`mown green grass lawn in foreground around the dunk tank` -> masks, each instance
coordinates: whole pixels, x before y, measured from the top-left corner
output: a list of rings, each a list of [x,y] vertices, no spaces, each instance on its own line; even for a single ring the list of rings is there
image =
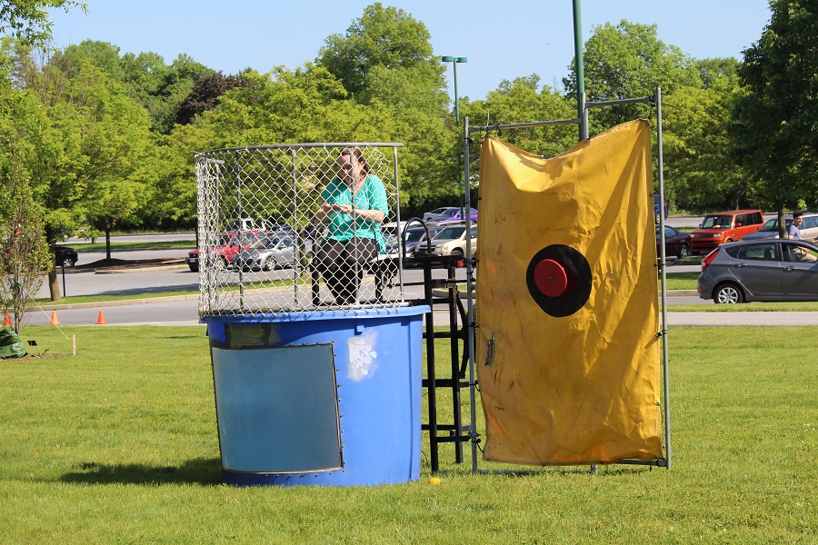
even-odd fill
[[[65,333],[75,357],[30,326],[46,357],[0,361],[3,543],[818,542],[818,374],[791,342],[813,328],[671,328],[673,471],[473,475],[443,445],[432,486],[424,432],[418,482],[244,489],[220,484],[204,327]]]

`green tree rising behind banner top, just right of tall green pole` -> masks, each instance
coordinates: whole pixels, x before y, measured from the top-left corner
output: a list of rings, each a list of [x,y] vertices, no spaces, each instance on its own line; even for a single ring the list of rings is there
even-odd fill
[[[569,66],[564,78],[565,94],[576,96],[576,66]],[[656,25],[621,21],[594,26],[585,43],[585,97],[598,102],[640,98],[655,93],[672,95],[680,87],[699,87],[701,80],[691,57],[674,45],[666,45],[656,34]],[[589,112],[590,133],[602,133],[615,124],[636,118],[651,118],[651,104],[619,104],[594,108]]]

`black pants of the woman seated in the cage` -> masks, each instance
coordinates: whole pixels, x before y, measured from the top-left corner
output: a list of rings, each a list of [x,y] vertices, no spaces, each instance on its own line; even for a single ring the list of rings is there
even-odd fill
[[[370,238],[327,239],[315,254],[318,272],[338,304],[358,302],[358,285],[366,263],[378,257],[378,243]]]

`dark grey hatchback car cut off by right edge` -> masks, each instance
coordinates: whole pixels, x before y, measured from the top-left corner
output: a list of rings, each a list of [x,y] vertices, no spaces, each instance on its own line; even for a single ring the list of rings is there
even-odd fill
[[[723,244],[703,259],[698,290],[717,303],[818,301],[818,245],[790,239]]]

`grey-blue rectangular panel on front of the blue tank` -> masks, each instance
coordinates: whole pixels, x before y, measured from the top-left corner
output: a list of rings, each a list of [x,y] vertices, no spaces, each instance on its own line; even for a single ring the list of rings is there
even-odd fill
[[[241,472],[341,469],[329,344],[213,349],[222,465]]]

